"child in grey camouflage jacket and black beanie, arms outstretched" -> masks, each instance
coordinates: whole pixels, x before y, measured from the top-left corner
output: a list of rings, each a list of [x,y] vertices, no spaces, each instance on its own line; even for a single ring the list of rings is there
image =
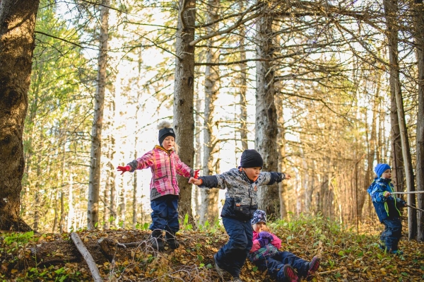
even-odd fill
[[[199,179],[191,177],[189,180],[199,187],[227,189],[221,217],[230,240],[213,255],[213,259],[218,274],[222,277],[227,271],[232,276],[232,282],[242,281],[240,270],[252,248],[250,220],[258,208],[258,188],[291,178],[281,172],[261,172],[263,165],[264,160],[257,151],[245,150],[238,169],[232,168],[223,174]]]

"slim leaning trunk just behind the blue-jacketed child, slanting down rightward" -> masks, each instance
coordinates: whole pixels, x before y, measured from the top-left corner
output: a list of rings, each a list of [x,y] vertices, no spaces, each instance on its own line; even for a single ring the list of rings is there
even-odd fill
[[[386,16],[387,37],[389,42],[389,61],[390,61],[390,88],[394,92],[396,100],[396,110],[399,120],[399,130],[401,136],[402,156],[404,158],[406,187],[409,192],[414,191],[413,170],[411,151],[409,147],[408,131],[406,128],[404,102],[401,93],[399,81],[399,63],[398,63],[398,29],[396,28],[396,15],[398,14],[397,0],[384,0],[384,13]],[[393,93],[392,92],[392,93]],[[396,175],[397,176],[397,175]],[[408,202],[415,203],[415,194],[408,194]],[[413,208],[408,208],[408,237],[413,239],[417,235],[417,212]]]

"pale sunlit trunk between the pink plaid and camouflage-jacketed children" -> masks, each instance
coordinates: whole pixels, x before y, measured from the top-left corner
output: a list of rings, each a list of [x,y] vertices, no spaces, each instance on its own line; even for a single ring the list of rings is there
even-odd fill
[[[220,0],[208,0],[208,23],[218,20],[218,7]],[[218,29],[218,24],[208,27],[208,33]],[[208,40],[208,46],[213,46],[213,39]],[[219,49],[209,48],[206,53],[206,61],[208,63],[218,63]],[[203,175],[215,175],[216,162],[219,141],[216,134],[217,121],[213,117],[216,116],[215,101],[218,98],[219,88],[219,67],[206,66],[205,69],[205,113],[204,113],[204,163]],[[204,225],[206,221],[214,223],[218,218],[218,191],[219,189],[201,189],[201,208],[199,223]]]

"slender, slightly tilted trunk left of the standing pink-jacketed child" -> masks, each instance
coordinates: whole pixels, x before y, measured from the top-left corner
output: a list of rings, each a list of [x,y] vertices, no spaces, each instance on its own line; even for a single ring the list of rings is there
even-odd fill
[[[102,155],[103,107],[105,104],[107,41],[110,0],[103,0],[100,10],[100,35],[97,90],[95,93],[93,127],[91,129],[90,180],[88,182],[87,228],[97,228],[99,221],[100,157]]]

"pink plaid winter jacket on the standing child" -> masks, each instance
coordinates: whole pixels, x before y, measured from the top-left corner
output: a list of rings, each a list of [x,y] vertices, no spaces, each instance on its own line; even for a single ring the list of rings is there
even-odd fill
[[[155,146],[152,151],[148,151],[128,165],[131,167],[131,172],[151,168],[151,200],[167,194],[179,195],[177,174],[184,177],[193,175],[193,170],[179,160],[175,151],[167,151],[161,146]],[[158,195],[152,193],[153,188],[158,191]]]

